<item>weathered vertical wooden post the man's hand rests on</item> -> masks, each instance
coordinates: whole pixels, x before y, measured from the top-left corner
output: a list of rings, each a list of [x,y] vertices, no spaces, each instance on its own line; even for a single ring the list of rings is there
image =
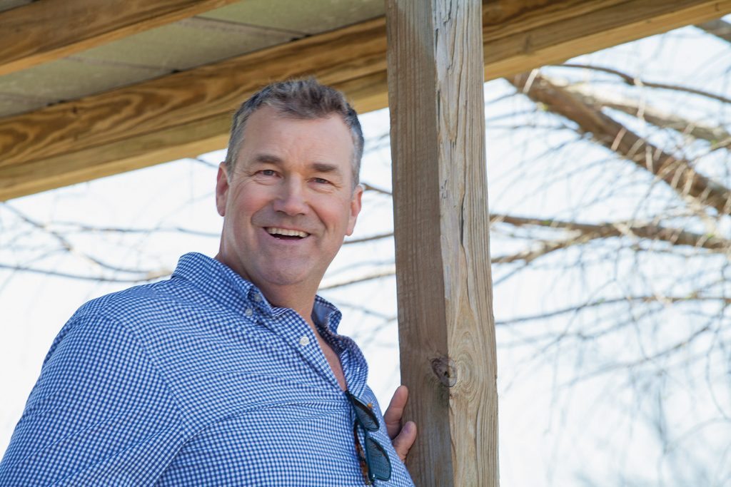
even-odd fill
[[[482,2],[387,0],[401,377],[419,487],[496,487]]]

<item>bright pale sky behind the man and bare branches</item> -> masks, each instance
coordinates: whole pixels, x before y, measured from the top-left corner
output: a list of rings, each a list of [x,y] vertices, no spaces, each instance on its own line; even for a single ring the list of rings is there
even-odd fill
[[[729,96],[729,80],[724,71],[731,64],[729,56],[730,50],[724,43],[702,37],[693,28],[685,28],[670,37],[645,39],[583,56],[575,62],[621,66],[625,72],[642,73],[643,77],[654,80],[672,76],[678,83]],[[567,68],[551,68],[545,72],[553,77],[573,79],[588,76]],[[607,86],[616,89],[616,84],[607,82]],[[607,166],[602,165],[606,162],[605,153],[586,145],[568,145],[575,136],[566,131],[537,137],[532,105],[524,99],[508,98],[511,93],[512,88],[501,80],[485,85],[488,188],[493,212],[587,221],[637,214],[640,200],[631,186],[612,193],[618,196],[594,203],[596,192],[601,193],[603,185],[616,189],[613,180],[602,179],[607,172]],[[700,117],[709,111],[695,99],[687,104],[678,100],[682,101],[683,97],[669,96],[659,102],[667,110],[689,117]],[[721,120],[727,119],[725,113],[717,115]],[[364,114],[362,123],[367,143],[361,180],[390,191],[390,147],[385,137],[389,129],[388,112]],[[0,454],[10,441],[53,337],[77,307],[88,299],[134,285],[135,280],[148,272],[155,275],[170,272],[184,253],[215,255],[221,218],[214,206],[213,189],[216,166],[223,157],[223,151],[216,151],[197,160],[160,164],[15,199],[0,206],[0,263],[58,273],[53,276],[0,269],[0,390],[4,391],[0,404]],[[548,161],[541,166],[540,174],[531,164],[538,160]],[[577,170],[583,166],[586,170]],[[708,168],[709,172],[714,170],[719,169]],[[719,177],[727,175],[719,172]],[[547,179],[554,183],[547,185]],[[654,187],[652,191],[664,190]],[[392,206],[387,194],[366,191],[363,207],[350,239],[393,231]],[[651,212],[652,208],[642,211]],[[33,224],[20,220],[18,212],[51,233],[33,229]],[[127,231],[104,230],[110,227]],[[181,228],[185,231],[176,231]],[[59,238],[71,242],[75,252],[63,250]],[[505,255],[520,245],[526,244],[520,239],[494,234],[491,253]],[[89,261],[87,256],[123,270],[105,268]],[[512,268],[495,272],[497,321],[571,304],[577,296],[596,286],[591,275],[588,279],[571,271],[556,275],[556,270],[550,269],[549,264],[561,266],[565,264],[561,259],[572,258],[580,256],[568,252],[553,261],[547,259],[544,268],[520,278],[511,277]],[[634,270],[628,266],[620,272],[631,274]],[[599,264],[594,272],[609,272],[609,269]],[[659,275],[659,271],[654,272]],[[393,274],[393,239],[375,239],[358,245],[346,243],[330,266],[323,287],[374,274]],[[128,282],[86,279],[113,276]],[[327,289],[322,294],[344,310],[340,331],[354,337],[363,348],[370,364],[369,383],[385,406],[399,383],[395,277]],[[610,308],[608,314],[612,312]],[[596,320],[606,320],[605,315],[596,315]],[[688,322],[686,315],[672,309],[659,310],[657,315],[658,320],[669,326],[645,344],[649,348],[672,342],[675,334],[667,329],[681,334]],[[722,445],[731,433],[727,425],[714,424],[702,429],[691,442],[682,445],[678,442],[681,456],[695,456],[693,462],[688,462],[689,467],[683,467],[671,461],[677,457],[662,452],[663,445],[657,442],[656,432],[644,421],[646,415],[662,409],[666,421],[680,427],[685,424],[683,418],[702,417],[708,413],[708,404],[714,402],[721,404],[719,409],[731,411],[728,388],[720,388],[711,397],[705,389],[698,388],[697,375],[689,373],[688,377],[669,375],[667,380],[673,387],[655,390],[641,370],[629,375],[588,377],[576,386],[571,384],[571,378],[577,370],[594,363],[590,358],[607,356],[609,363],[615,356],[633,350],[635,341],[617,335],[608,350],[605,345],[600,347],[589,342],[586,348],[580,349],[584,350],[582,353],[561,345],[545,345],[542,350],[548,358],[538,359],[537,347],[526,344],[531,340],[539,342],[541,331],[569,331],[582,322],[561,316],[540,324],[540,328],[499,326],[497,330],[499,454],[504,486],[721,486],[726,480],[731,482],[729,450],[722,446],[702,448],[716,443]],[[693,353],[690,348],[688,353]],[[672,429],[668,427],[667,431]],[[718,455],[719,451],[725,452],[720,458],[705,458],[711,453]],[[694,472],[694,464],[714,464],[716,470],[708,474],[710,477],[702,477],[707,474]],[[595,477],[587,477],[586,472],[594,472]],[[626,478],[621,478],[618,472],[625,472]],[[603,479],[604,483],[597,482],[596,478]],[[704,479],[703,483],[694,483],[698,479]]]

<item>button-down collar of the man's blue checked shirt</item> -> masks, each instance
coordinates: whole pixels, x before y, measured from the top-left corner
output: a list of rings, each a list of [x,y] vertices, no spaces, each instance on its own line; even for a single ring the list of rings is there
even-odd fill
[[[284,308],[273,307],[259,288],[226,264],[202,253],[186,253],[178,260],[173,278],[182,277],[226,307],[245,312],[252,304],[265,315],[279,315]],[[342,314],[321,296],[315,296],[312,319],[317,328],[336,334]]]

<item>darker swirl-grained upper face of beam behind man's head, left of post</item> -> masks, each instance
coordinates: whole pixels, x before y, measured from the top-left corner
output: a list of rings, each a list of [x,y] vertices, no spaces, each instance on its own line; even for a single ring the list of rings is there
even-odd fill
[[[1,166],[140,137],[232,112],[273,80],[334,84],[385,72],[382,19],[0,120]]]

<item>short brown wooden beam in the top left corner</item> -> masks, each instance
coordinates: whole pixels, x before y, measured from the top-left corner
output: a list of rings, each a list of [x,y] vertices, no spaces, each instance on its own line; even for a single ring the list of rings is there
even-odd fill
[[[0,76],[238,0],[38,0],[0,12]]]

